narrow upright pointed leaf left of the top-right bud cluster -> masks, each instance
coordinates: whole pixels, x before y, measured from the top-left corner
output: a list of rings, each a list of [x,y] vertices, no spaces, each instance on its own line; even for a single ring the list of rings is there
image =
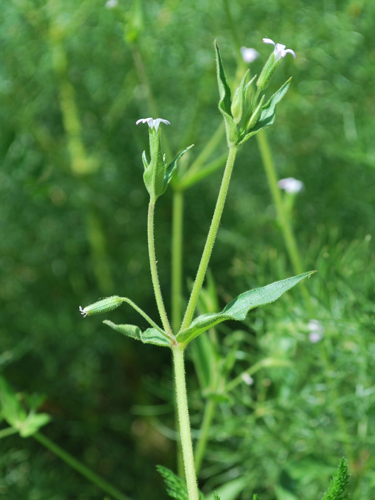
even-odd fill
[[[234,123],[233,116],[231,114],[231,93],[228,81],[226,79],[224,66],[222,65],[222,60],[220,57],[219,48],[217,46],[216,40],[214,41],[215,54],[216,54],[216,74],[217,74],[217,85],[219,89],[219,102],[218,108],[224,117],[226,140],[228,146],[236,144],[238,140],[237,126]]]

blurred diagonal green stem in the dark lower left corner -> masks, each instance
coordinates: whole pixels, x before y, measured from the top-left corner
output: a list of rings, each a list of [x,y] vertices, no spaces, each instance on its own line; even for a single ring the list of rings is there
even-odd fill
[[[40,434],[40,432],[35,432],[32,434],[32,437],[36,439],[40,444],[45,446],[47,449],[52,451],[56,456],[64,460],[70,467],[75,469],[81,475],[83,475],[86,479],[93,482],[100,489],[111,495],[116,500],[131,500],[129,496],[121,493],[117,488],[112,486],[109,482],[102,479],[100,476],[96,475],[95,472],[90,470],[88,467],[83,465],[83,463],[79,462],[76,458],[70,455],[67,451],[60,448],[56,443],[48,439],[44,434]]]

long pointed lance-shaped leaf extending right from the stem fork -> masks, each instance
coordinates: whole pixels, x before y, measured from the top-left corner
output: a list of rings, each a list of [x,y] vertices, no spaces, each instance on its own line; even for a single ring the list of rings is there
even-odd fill
[[[281,296],[286,290],[289,290],[296,285],[301,279],[310,276],[315,271],[303,272],[297,276],[293,276],[274,283],[267,284],[261,288],[245,291],[238,295],[237,298],[227,304],[221,312],[201,314],[190,324],[190,326],[180,331],[177,336],[177,342],[186,345],[199,333],[211,328],[221,321],[226,319],[243,320],[247,312],[259,305],[273,302]]]

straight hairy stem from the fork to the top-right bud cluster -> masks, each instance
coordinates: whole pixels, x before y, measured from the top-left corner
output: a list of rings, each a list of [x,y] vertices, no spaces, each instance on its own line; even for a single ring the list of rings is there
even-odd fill
[[[235,155],[237,153],[238,146],[230,146],[228,159],[226,160],[224,174],[222,176],[221,185],[219,194],[216,201],[215,210],[213,212],[213,217],[211,221],[211,225],[209,227],[207,239],[204,245],[203,253],[200,259],[199,267],[196,273],[194,285],[191,290],[189,302],[186,307],[185,315],[182,321],[181,330],[187,328],[191,323],[191,319],[194,315],[194,310],[196,306],[196,302],[199,297],[199,292],[203,284],[204,276],[207,270],[209,258],[211,256],[213,243],[215,242],[217,229],[220,223],[220,218],[222,214],[222,210],[224,208],[226,194],[228,192],[230,176],[233,170]]]

